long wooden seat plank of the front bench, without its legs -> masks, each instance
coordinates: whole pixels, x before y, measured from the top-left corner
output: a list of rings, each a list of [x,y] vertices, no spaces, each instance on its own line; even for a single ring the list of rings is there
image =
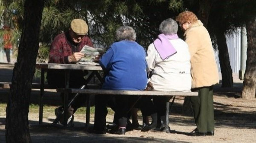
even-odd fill
[[[58,88],[57,92],[63,93],[79,93],[89,95],[174,95],[174,96],[197,96],[197,92],[181,92],[181,91],[127,91],[127,90],[102,90],[102,89],[64,89]]]

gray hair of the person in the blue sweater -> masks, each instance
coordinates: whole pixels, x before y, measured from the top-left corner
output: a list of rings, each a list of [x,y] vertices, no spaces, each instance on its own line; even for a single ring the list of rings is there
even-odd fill
[[[116,30],[116,41],[136,40],[135,30],[130,26],[121,26]]]

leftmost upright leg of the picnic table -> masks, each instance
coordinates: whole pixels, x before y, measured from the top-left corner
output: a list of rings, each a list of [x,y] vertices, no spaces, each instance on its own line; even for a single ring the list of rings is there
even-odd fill
[[[43,93],[44,93],[44,69],[41,69],[40,97],[39,97],[39,125],[43,123]]]

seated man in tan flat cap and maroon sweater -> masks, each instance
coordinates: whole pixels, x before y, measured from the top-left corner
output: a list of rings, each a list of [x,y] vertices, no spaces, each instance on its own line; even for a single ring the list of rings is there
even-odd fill
[[[93,47],[93,43],[86,35],[88,32],[88,25],[82,19],[73,19],[70,23],[68,31],[57,35],[51,45],[49,62],[56,64],[76,64],[83,56],[79,51],[85,46]],[[80,88],[85,84],[84,76],[87,71],[73,70],[70,71],[69,87]],[[56,88],[64,88],[65,73],[60,70],[48,70],[47,82],[49,85]],[[61,94],[64,101],[64,94]],[[72,99],[74,95],[69,95],[68,99]],[[73,126],[73,114],[86,101],[85,95],[78,96],[71,106],[68,108],[67,125]],[[63,107],[55,109],[55,115],[58,117],[63,111]],[[63,117],[60,118],[59,124],[63,124]]]

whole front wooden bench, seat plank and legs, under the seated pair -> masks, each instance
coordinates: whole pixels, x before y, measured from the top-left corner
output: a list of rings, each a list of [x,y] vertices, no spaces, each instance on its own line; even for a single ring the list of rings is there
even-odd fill
[[[68,94],[86,94],[87,96],[87,107],[86,107],[86,130],[88,129],[90,122],[90,95],[138,95],[138,96],[174,96],[172,104],[174,102],[175,96],[197,96],[197,92],[181,92],[181,91],[126,91],[126,90],[102,90],[102,89],[64,89],[58,88],[57,92],[68,93]],[[172,106],[171,104],[171,106]],[[166,102],[166,126],[164,131],[169,133],[169,102]]]

